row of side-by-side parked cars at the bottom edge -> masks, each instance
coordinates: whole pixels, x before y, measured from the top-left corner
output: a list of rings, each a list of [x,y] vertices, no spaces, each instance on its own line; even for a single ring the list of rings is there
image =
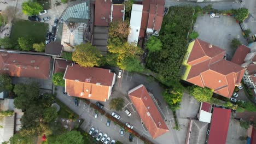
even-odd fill
[[[96,138],[96,141],[101,141],[104,144],[114,144],[115,140],[112,139],[108,136],[108,134],[103,134],[102,132],[100,132],[98,129],[95,129],[94,127],[91,127],[90,131],[89,131],[89,135],[91,135],[92,137]],[[111,141],[110,141],[111,140]]]

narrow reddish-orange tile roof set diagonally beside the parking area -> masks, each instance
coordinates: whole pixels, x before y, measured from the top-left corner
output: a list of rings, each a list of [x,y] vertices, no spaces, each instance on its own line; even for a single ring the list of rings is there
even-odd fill
[[[164,119],[145,86],[139,85],[131,89],[129,98],[153,139],[168,131]]]

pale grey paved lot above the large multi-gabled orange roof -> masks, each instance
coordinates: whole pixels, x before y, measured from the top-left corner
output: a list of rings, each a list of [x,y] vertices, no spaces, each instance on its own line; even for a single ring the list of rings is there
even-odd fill
[[[237,38],[242,44],[247,45],[239,24],[232,16],[220,16],[220,18],[210,18],[207,14],[199,16],[194,31],[199,33],[199,39],[224,49],[228,54],[228,60],[231,60],[234,54],[234,50],[230,47],[232,39]]]

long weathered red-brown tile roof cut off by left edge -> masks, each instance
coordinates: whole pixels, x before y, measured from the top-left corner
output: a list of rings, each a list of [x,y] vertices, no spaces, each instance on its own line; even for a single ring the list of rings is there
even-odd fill
[[[48,56],[0,52],[0,74],[48,79],[50,61]]]

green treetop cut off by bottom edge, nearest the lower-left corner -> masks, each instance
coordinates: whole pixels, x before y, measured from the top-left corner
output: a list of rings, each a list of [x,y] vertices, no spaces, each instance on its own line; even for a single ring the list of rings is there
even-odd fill
[[[33,144],[33,136],[21,136],[19,133],[10,137],[10,144]]]

